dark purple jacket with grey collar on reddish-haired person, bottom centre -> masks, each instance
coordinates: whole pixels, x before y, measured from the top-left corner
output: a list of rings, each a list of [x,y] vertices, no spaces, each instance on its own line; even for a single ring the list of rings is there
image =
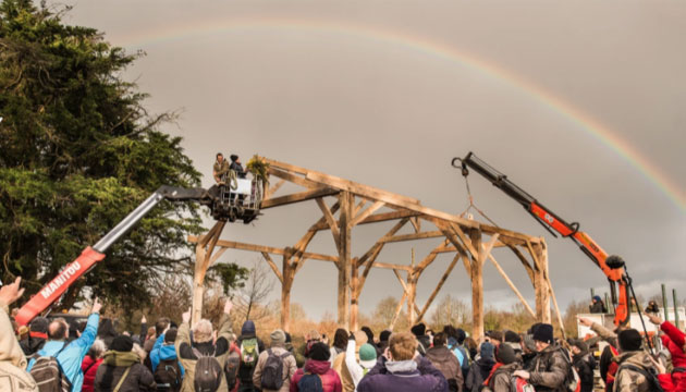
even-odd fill
[[[425,357],[391,362],[381,357],[357,385],[358,392],[448,392],[448,381]]]

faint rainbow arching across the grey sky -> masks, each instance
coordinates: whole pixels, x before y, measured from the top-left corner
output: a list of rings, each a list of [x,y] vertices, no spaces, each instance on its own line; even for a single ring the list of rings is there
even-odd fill
[[[221,19],[215,21],[203,21],[201,25],[173,25],[155,30],[137,32],[118,39],[117,45],[130,49],[160,45],[168,41],[189,39],[206,35],[219,35],[238,32],[253,30],[294,30],[307,32],[310,34],[326,33],[373,40],[385,45],[400,46],[426,56],[439,58],[458,63],[467,69],[474,70],[487,76],[504,82],[536,100],[543,107],[559,113],[563,118],[577,124],[580,130],[601,142],[616,155],[626,160],[638,172],[640,172],[650,183],[657,186],[682,212],[686,212],[686,191],[670,179],[665,173],[650,162],[629,143],[622,139],[615,132],[595,120],[587,113],[581,112],[568,102],[555,97],[553,94],[542,89],[534,83],[515,75],[495,64],[489,63],[470,53],[460,51],[455,48],[436,42],[428,38],[415,35],[407,35],[400,32],[354,25],[336,21],[309,21],[293,19]]]

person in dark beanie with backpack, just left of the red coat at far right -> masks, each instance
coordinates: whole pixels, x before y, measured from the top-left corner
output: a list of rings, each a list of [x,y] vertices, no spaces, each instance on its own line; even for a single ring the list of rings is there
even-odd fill
[[[613,392],[656,391],[659,385],[658,367],[645,352],[642,336],[635,329],[627,329],[617,334],[620,342],[618,369],[614,378]]]

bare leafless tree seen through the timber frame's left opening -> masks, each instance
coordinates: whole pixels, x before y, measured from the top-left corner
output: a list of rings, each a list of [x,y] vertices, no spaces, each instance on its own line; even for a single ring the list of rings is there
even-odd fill
[[[274,285],[271,271],[261,259],[253,260],[245,285],[238,290],[236,305],[244,320],[260,320],[269,316],[265,301]]]

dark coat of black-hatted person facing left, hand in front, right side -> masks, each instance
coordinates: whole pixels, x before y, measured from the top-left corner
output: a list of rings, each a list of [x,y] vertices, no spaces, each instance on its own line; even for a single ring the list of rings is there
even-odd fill
[[[536,355],[529,382],[536,392],[566,391],[565,381],[569,372],[569,362],[562,348],[550,345]]]

